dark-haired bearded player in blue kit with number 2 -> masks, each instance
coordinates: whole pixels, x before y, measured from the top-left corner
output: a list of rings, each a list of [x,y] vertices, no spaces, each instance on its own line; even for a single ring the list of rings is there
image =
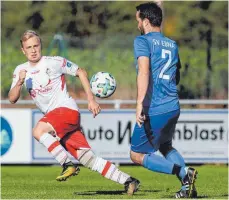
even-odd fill
[[[186,167],[172,146],[180,115],[176,85],[181,67],[175,41],[161,33],[162,10],[156,3],[136,7],[141,36],[134,40],[137,68],[136,125],[130,156],[134,163],[159,173],[174,174],[182,187],[176,198],[195,198],[197,171]],[[162,156],[156,155],[160,151]]]

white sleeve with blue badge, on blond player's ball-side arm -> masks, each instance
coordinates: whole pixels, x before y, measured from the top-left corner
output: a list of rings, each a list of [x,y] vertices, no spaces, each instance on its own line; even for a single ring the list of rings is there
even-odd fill
[[[54,68],[56,71],[61,71],[62,74],[76,76],[77,70],[79,69],[78,65],[63,57],[55,57],[54,60]]]

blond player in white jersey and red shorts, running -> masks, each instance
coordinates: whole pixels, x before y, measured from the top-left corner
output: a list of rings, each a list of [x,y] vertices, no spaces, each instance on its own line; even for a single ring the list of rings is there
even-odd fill
[[[64,181],[79,173],[79,167],[68,158],[67,150],[85,167],[123,184],[128,194],[136,192],[140,182],[96,156],[82,133],[80,113],[75,100],[67,92],[64,76],[68,74],[80,79],[87,95],[88,109],[95,117],[101,108],[91,92],[86,71],[65,58],[42,56],[41,38],[35,31],[27,30],[20,42],[28,62],[17,66],[14,71],[9,101],[16,103],[25,85],[44,113],[33,129],[33,136],[62,165],[63,171],[56,180]]]

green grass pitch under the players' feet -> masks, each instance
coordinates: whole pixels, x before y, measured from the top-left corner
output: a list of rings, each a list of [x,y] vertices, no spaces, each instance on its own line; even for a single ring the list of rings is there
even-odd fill
[[[195,167],[199,198],[228,199],[228,166]],[[158,174],[139,166],[121,166],[121,170],[141,181],[134,196],[123,192],[123,185],[81,167],[76,177],[57,182],[58,166],[2,166],[2,199],[171,199],[180,188],[175,176]]]

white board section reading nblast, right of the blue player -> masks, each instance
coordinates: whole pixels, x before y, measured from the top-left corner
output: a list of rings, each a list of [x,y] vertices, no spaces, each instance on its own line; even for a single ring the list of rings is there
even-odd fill
[[[228,163],[227,110],[182,110],[174,147],[189,163]]]

